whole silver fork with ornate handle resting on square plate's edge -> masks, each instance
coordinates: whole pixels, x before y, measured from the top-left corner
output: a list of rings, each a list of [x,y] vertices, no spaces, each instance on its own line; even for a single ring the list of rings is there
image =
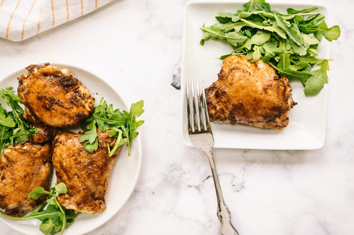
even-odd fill
[[[202,97],[199,89],[199,81],[197,82],[197,97],[194,96],[194,86],[191,82],[191,96],[189,85],[187,82],[187,125],[189,138],[194,147],[200,149],[209,160],[212,176],[214,179],[216,198],[217,198],[217,217],[221,222],[220,235],[238,235],[238,232],[231,224],[231,214],[226,206],[223,193],[220,187],[219,178],[217,177],[215,163],[213,159],[212,149],[214,146],[214,138],[210,128],[209,114],[206,106],[204,81],[202,81]],[[197,99],[197,102],[196,102]],[[192,109],[192,114],[191,110]]]

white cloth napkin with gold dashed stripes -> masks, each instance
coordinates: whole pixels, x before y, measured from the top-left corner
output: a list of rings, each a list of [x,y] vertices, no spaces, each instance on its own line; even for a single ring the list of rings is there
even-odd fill
[[[21,41],[112,0],[0,0],[0,37]]]

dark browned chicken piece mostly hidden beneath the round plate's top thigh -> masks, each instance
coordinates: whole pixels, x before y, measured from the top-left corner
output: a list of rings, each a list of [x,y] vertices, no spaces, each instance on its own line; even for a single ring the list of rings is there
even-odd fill
[[[35,118],[31,115],[26,107],[23,118],[29,124],[30,128],[39,129],[39,132],[31,135],[28,138],[28,141],[32,144],[45,144],[51,142],[60,131],[59,128],[50,127],[38,120],[35,120]]]

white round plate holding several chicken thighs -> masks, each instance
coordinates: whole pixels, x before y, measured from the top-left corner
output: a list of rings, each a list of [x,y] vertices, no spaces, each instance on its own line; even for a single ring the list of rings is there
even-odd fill
[[[70,69],[73,76],[79,79],[84,86],[89,89],[92,96],[97,102],[101,97],[105,97],[107,103],[113,104],[114,108],[129,110],[123,99],[112,89],[103,79],[98,76],[71,65],[51,63],[60,69]],[[18,70],[13,74],[5,77],[0,81],[0,87],[14,87],[17,90],[18,81],[17,77],[26,72],[25,69]],[[96,104],[97,104],[96,102]],[[119,151],[117,159],[111,171],[111,177],[108,185],[108,192],[106,197],[106,210],[101,213],[86,214],[79,213],[75,217],[75,222],[65,229],[64,234],[84,234],[90,232],[112,218],[124,203],[130,197],[132,191],[137,183],[140,167],[142,161],[142,143],[141,138],[138,136],[133,140],[131,146],[130,156],[128,156],[128,149],[124,145]],[[53,174],[52,186],[55,185],[56,177]],[[43,234],[39,230],[40,221],[37,219],[28,220],[14,220],[0,215],[3,220],[10,227],[25,233],[25,234]]]

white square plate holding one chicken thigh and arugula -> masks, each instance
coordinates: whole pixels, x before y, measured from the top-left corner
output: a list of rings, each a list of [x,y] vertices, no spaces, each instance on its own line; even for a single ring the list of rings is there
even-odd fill
[[[217,23],[218,12],[235,13],[243,10],[243,1],[190,2],[185,6],[182,56],[182,137],[186,145],[192,146],[186,124],[186,83],[204,79],[208,87],[217,80],[222,61],[216,57],[232,51],[227,43],[208,40],[204,46],[199,44],[202,36],[200,26]],[[272,10],[286,13],[287,8],[304,9],[318,7],[318,12],[326,16],[324,6],[293,4],[293,1],[269,1]],[[330,24],[329,24],[330,25]],[[324,38],[319,46],[319,58],[329,58],[329,42]],[[291,83],[293,99],[298,102],[290,110],[289,125],[282,130],[261,129],[242,125],[211,124],[215,148],[242,149],[319,149],[325,143],[327,120],[327,93],[325,87],[316,96],[306,97],[300,82]]]

